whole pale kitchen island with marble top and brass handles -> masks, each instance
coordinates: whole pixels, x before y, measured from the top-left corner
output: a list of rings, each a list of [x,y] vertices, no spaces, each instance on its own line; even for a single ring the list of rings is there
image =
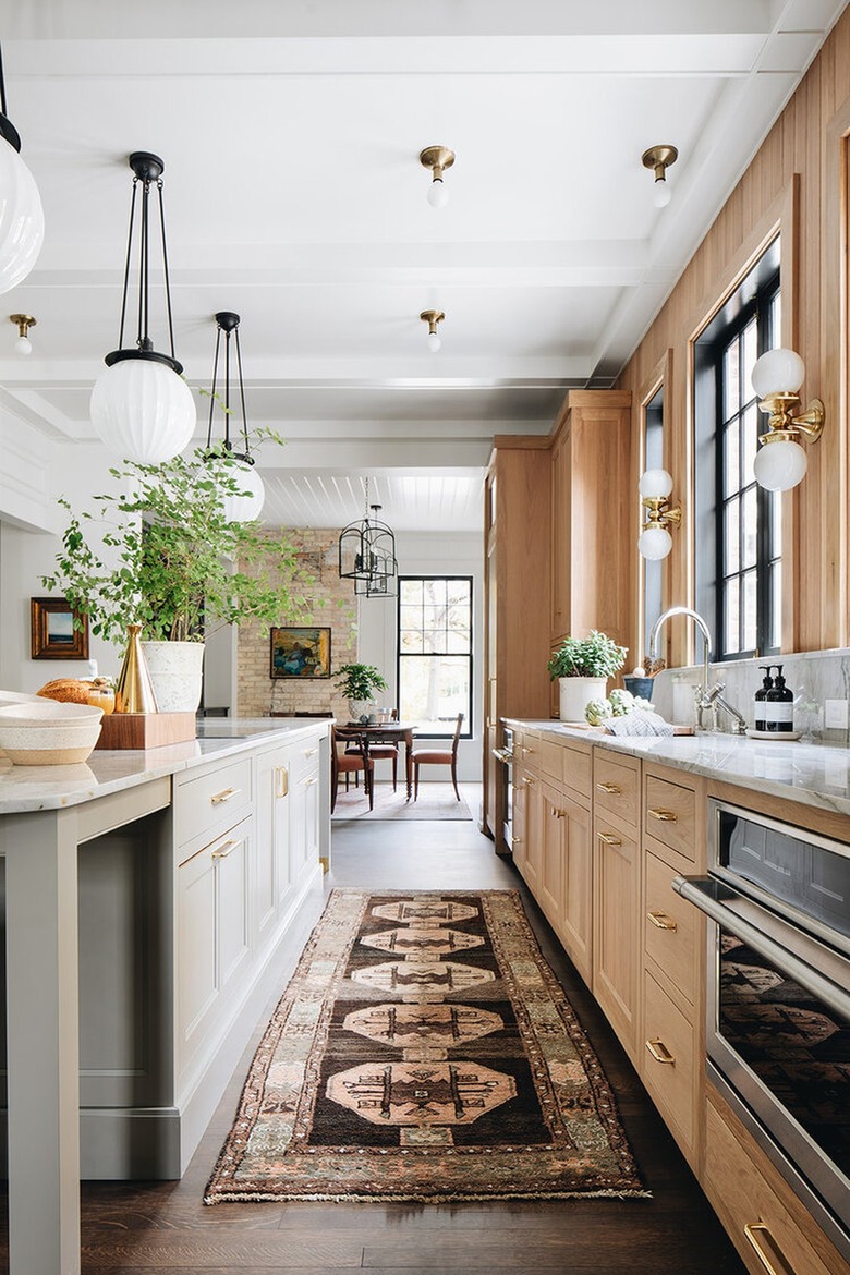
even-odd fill
[[[330,856],[329,720],[0,760],[9,1270],[80,1270],[80,1177],[180,1177]]]

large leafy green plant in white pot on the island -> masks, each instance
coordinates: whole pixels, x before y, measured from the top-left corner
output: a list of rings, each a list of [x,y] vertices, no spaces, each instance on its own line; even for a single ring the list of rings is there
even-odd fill
[[[42,578],[92,632],[120,645],[127,625],[141,626],[162,711],[198,708],[204,634],[220,625],[268,625],[307,617],[298,592],[311,583],[296,569],[294,550],[259,523],[231,521],[224,497],[242,493],[236,463],[223,449],[198,448],[159,465],[125,460],[110,473],[116,491],[93,497],[94,511],[70,514],[56,570]],[[178,648],[194,664],[189,699],[175,696],[182,673],[157,680]]]

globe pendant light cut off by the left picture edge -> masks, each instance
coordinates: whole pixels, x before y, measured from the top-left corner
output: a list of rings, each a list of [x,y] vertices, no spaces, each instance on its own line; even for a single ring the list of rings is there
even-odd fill
[[[25,279],[45,238],[38,186],[20,158],[20,135],[6,116],[6,85],[0,55],[0,292]]]

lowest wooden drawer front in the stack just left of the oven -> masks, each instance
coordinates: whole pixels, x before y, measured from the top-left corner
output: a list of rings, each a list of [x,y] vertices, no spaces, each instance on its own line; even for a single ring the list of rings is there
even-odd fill
[[[686,1144],[693,1146],[693,1026],[649,973],[644,997],[644,1084]]]

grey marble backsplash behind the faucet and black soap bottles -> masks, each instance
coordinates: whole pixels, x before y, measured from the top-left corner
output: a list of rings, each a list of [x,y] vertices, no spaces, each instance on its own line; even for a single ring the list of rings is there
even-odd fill
[[[850,700],[850,649],[804,652],[798,655],[772,657],[782,664],[785,685],[794,695],[794,729],[803,740],[817,743],[849,745],[846,728],[825,727],[827,700]],[[762,685],[761,668],[767,659],[739,659],[710,666],[710,681],[724,682],[724,699],[753,724],[753,695]],[[702,682],[702,664],[688,668],[665,668],[655,677],[652,705],[668,722],[693,722],[692,686]],[[720,729],[731,727],[720,709]]]

